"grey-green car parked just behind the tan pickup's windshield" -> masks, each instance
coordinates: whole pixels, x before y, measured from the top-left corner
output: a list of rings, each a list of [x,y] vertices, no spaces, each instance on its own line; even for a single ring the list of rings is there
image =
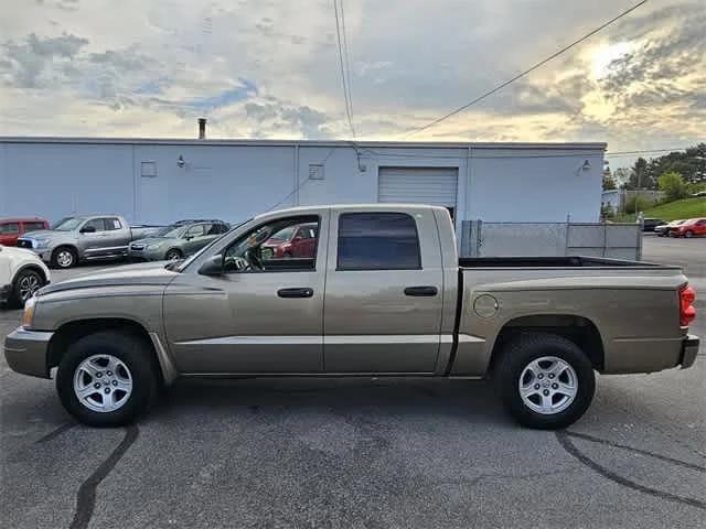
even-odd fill
[[[178,260],[190,256],[229,229],[223,220],[180,220],[156,231],[151,237],[130,244],[128,255],[135,260]]]

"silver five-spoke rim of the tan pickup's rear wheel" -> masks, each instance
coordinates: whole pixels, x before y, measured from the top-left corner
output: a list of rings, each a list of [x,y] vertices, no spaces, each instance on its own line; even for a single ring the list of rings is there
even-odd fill
[[[552,415],[571,406],[578,392],[578,377],[561,358],[543,356],[532,360],[522,370],[518,390],[527,408],[543,415]]]

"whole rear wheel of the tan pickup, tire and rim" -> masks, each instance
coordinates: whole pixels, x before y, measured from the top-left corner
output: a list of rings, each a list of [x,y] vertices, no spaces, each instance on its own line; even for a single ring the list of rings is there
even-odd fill
[[[555,334],[523,333],[501,355],[495,381],[505,409],[520,424],[567,428],[590,406],[593,366],[574,342]]]

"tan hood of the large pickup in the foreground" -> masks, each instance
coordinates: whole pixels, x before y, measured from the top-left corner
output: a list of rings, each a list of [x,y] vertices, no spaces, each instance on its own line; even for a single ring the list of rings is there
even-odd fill
[[[51,283],[40,290],[40,295],[66,290],[126,285],[167,285],[179,272],[167,270],[167,262],[141,262],[98,270],[93,273]]]

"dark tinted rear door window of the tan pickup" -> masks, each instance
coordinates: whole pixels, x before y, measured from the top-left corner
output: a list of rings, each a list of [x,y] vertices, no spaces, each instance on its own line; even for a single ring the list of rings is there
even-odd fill
[[[339,270],[421,268],[417,224],[402,213],[346,213],[339,217]]]

